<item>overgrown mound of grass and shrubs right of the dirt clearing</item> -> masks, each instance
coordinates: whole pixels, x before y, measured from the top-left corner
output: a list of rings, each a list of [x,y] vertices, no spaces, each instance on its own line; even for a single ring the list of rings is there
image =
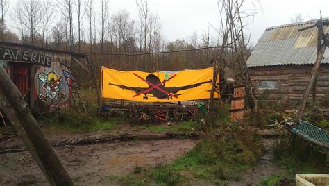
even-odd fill
[[[225,108],[224,108],[225,109]],[[228,112],[201,114],[194,124],[203,139],[169,166],[189,171],[195,178],[223,183],[239,180],[240,172],[251,169],[262,152],[261,137],[243,124],[228,122]]]

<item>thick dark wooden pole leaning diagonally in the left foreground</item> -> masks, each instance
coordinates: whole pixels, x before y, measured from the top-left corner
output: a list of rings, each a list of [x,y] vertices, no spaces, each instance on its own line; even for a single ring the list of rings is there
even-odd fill
[[[33,86],[33,85],[31,85]],[[3,67],[0,67],[0,110],[22,137],[28,151],[50,185],[73,185],[49,143],[44,138],[27,103]]]

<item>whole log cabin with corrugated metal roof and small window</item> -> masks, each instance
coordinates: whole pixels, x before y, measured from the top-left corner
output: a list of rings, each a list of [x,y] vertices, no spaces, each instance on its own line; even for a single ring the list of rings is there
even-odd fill
[[[317,28],[298,32],[317,20],[267,28],[248,58],[256,93],[267,91],[270,99],[301,101],[317,58]],[[323,31],[329,33],[329,27]],[[329,95],[329,49],[321,61],[317,99]],[[312,94],[310,94],[310,98]]]

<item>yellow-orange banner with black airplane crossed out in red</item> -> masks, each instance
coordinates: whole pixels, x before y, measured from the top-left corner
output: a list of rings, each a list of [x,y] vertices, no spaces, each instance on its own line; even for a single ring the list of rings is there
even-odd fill
[[[102,67],[103,98],[143,102],[171,102],[208,99],[213,68],[167,72],[117,71]],[[217,78],[219,79],[219,78]],[[214,92],[214,98],[219,94]]]

